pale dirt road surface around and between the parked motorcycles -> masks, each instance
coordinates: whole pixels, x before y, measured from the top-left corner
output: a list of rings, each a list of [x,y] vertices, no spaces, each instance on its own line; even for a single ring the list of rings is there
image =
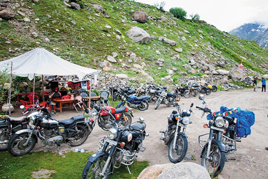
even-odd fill
[[[264,146],[268,146],[266,133],[268,126],[268,92],[261,92],[260,89],[257,89],[257,92],[253,92],[252,89],[219,91],[205,96],[205,101],[215,111],[224,105],[229,108],[240,107],[242,110],[251,110],[255,113],[255,124],[251,127],[252,134],[247,138],[242,138],[242,142],[237,143],[237,151],[227,156],[235,160],[229,160],[229,162],[225,163],[221,178],[268,178],[268,150],[264,149]],[[194,103],[193,111],[195,115],[191,115],[193,124],[190,124],[186,130],[188,136],[188,152],[186,156],[192,155],[194,160],[184,159],[183,161],[201,164],[201,148],[198,145],[198,135],[209,132],[208,129],[202,127],[203,124],[208,122],[205,116],[201,119],[201,111],[195,109],[195,106],[202,106],[202,102],[198,100],[198,97],[188,99],[182,97],[182,101],[179,104],[182,109],[189,109],[192,102]],[[163,104],[155,110],[152,103],[150,103],[149,109],[146,111],[135,110],[133,121],[143,117],[147,124],[146,132],[150,134],[144,140],[143,146],[146,147],[146,150],[138,153],[137,160],[150,161],[150,165],[170,162],[168,159],[168,146],[159,140],[161,136],[159,130],[166,128],[167,116],[170,115],[172,110],[175,110],[175,108],[166,107]],[[83,112],[79,112],[79,114],[83,114]],[[16,115],[19,116],[20,114],[16,113],[13,116],[15,117]],[[62,114],[55,115],[54,118],[61,120],[74,115],[77,115],[74,111],[64,111]],[[79,148],[96,151],[98,142],[103,135],[105,135],[105,131],[96,124],[88,140]],[[57,151],[56,147],[42,147],[40,143],[34,150]],[[74,151],[74,148],[68,145],[60,146],[61,152],[71,150]]]

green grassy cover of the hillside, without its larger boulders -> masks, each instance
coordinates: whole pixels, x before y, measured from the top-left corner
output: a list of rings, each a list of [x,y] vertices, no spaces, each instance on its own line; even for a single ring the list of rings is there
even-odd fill
[[[107,55],[116,52],[119,54],[115,58],[118,62],[112,64],[111,72],[125,73],[143,81],[140,71],[133,68],[121,68],[122,63],[132,66],[144,62],[147,65],[144,71],[154,79],[166,76],[166,70],[175,67],[177,71],[172,76],[175,79],[180,77],[179,72],[187,71],[182,65],[188,64],[193,55],[203,54],[211,63],[225,58],[229,62],[225,64],[227,70],[239,64],[242,56],[246,58],[243,60],[246,68],[261,74],[267,73],[268,52],[266,50],[253,41],[242,40],[221,32],[204,21],[193,22],[187,19],[182,21],[172,17],[169,13],[163,13],[156,7],[133,1],[82,0],[81,2],[85,3],[84,7],[90,9],[85,8],[79,11],[70,9],[63,6],[63,1],[60,0],[36,3],[24,0],[23,6],[20,4],[20,7],[14,11],[19,10],[25,13],[26,17],[31,20],[30,22],[24,22],[23,16],[17,13],[13,20],[0,22],[0,61],[36,47],[44,47],[76,64],[100,69],[99,63],[106,60]],[[103,10],[111,17],[101,16],[92,4],[102,5]],[[135,10],[143,10],[156,20],[150,19],[145,24],[135,23],[132,21]],[[168,21],[158,21],[161,16],[167,18]],[[75,21],[75,24],[71,21]],[[106,24],[112,28],[104,27]],[[149,44],[137,44],[125,35],[125,32],[132,26],[138,26],[156,38],[153,38]],[[122,33],[120,40],[115,38],[117,35],[115,29]],[[185,33],[184,30],[189,31],[190,34]],[[36,32],[38,37],[33,37],[33,32]],[[177,45],[168,46],[158,40],[160,36],[175,40]],[[185,41],[179,38],[182,36],[186,38]],[[50,42],[45,42],[45,38],[48,38]],[[208,50],[210,45],[214,50]],[[182,53],[174,50],[178,47],[183,48]],[[161,54],[158,55],[156,50],[159,50]],[[127,53],[135,53],[138,58],[130,64],[127,61],[129,59]],[[179,54],[179,60],[171,58],[174,54]],[[165,60],[160,70],[155,63],[159,58]],[[202,73],[192,75],[202,75]]]

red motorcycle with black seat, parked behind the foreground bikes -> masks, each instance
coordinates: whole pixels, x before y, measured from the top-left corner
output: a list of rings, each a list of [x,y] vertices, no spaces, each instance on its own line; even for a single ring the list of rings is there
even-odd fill
[[[107,130],[113,127],[110,120],[115,121],[121,128],[130,125],[132,122],[132,109],[128,109],[126,106],[115,109],[110,106],[98,107],[96,104],[89,112],[90,125],[95,126],[98,121],[98,125],[103,130]]]

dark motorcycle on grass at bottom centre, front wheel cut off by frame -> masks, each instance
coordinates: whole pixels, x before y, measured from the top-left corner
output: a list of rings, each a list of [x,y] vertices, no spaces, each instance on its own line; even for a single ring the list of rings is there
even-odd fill
[[[128,166],[134,163],[136,153],[146,149],[142,146],[145,136],[149,136],[145,128],[144,119],[139,118],[134,125],[124,129],[118,126],[108,129],[106,136],[100,140],[98,152],[88,158],[82,179],[108,178],[114,168],[119,168],[122,164],[130,173]]]

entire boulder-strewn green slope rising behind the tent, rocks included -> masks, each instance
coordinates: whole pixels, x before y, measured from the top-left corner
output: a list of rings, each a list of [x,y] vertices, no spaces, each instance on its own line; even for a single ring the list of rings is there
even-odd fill
[[[268,72],[267,51],[255,42],[147,4],[4,0],[0,6],[0,60],[44,47],[76,64],[159,83],[223,76],[242,59],[244,76]]]

